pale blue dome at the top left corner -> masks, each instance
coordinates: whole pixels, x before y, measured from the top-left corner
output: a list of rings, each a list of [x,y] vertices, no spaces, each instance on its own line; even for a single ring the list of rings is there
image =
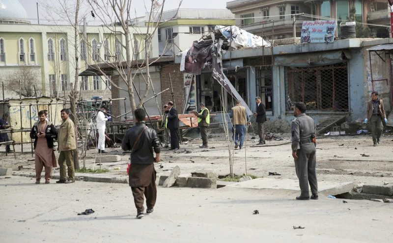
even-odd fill
[[[18,0],[0,0],[0,23],[30,24],[28,13]]]

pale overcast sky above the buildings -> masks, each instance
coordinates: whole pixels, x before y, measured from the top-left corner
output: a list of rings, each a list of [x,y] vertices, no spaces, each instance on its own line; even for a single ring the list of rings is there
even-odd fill
[[[57,1],[69,1],[74,2],[74,0],[19,0],[22,6],[26,9],[28,13],[29,21],[32,24],[37,23],[37,2],[38,2],[38,12],[40,18],[40,24],[43,24],[45,20],[55,21],[60,20],[60,17],[51,16],[47,13],[47,8],[45,4],[55,5]],[[106,2],[107,0],[99,0]],[[197,9],[226,9],[226,2],[230,0],[183,0],[180,8],[197,8]],[[149,3],[150,0],[132,0],[132,7],[137,13],[137,17],[142,17],[145,15],[145,7],[143,2]],[[159,0],[162,2],[162,0]],[[164,11],[177,8],[180,0],[166,0],[164,5]],[[196,4],[197,3],[197,4]],[[90,12],[88,7],[84,8],[85,12]],[[90,15],[89,15],[90,18]],[[92,19],[87,19],[87,21],[93,21]],[[97,21],[97,20],[95,20]]]

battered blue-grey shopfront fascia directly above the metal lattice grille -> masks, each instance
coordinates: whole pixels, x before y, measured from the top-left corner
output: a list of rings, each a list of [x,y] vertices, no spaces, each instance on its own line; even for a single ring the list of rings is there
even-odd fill
[[[296,55],[282,55],[274,58],[274,64],[288,67],[309,67],[331,65],[351,59],[352,56],[347,50],[337,50],[328,52],[305,53]]]

